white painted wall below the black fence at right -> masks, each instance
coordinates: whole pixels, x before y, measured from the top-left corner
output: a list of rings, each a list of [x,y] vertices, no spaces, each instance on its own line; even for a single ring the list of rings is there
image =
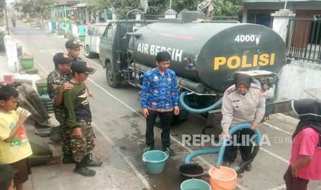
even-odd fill
[[[312,98],[304,89],[321,88],[321,65],[315,63],[292,61],[278,76],[278,100]]]

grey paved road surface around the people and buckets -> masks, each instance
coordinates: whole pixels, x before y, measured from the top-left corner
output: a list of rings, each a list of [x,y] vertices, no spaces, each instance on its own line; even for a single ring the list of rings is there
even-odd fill
[[[17,23],[13,36],[35,57],[40,74],[46,77],[54,68],[52,56],[64,52],[65,40],[61,36]],[[110,88],[98,59],[85,59],[97,72],[88,79],[95,98],[90,99],[93,111],[97,147],[95,155],[104,160],[97,176],[84,178],[72,173],[72,165],[50,165],[32,168],[28,189],[179,189],[177,168],[182,165],[188,151],[208,147],[182,146],[183,134],[200,134],[206,122],[200,116],[190,115],[188,121],[172,128],[173,149],[177,152],[166,162],[159,175],[146,173],[141,150],[144,147],[144,118],[139,114],[139,89],[124,85]],[[264,145],[253,162],[251,172],[239,176],[239,189],[284,189],[282,176],[289,165],[291,133],[297,120],[276,114],[260,125]],[[159,137],[159,130],[155,136]],[[159,138],[156,139],[159,145]],[[160,148],[158,146],[157,148]],[[214,165],[216,155],[199,156],[205,168]],[[208,180],[208,178],[204,178]],[[321,189],[321,182],[310,182],[309,189]]]

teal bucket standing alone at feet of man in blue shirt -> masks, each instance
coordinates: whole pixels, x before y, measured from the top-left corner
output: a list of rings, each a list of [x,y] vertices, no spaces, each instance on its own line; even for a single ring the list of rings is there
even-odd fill
[[[168,152],[152,150],[143,154],[143,161],[146,162],[148,173],[161,173],[165,167],[165,161],[168,158]]]

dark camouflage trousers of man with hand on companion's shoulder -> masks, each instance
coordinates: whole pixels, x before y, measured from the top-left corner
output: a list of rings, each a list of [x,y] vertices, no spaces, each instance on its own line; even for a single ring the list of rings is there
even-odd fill
[[[64,157],[72,157],[72,151],[70,148],[70,129],[66,123],[66,115],[61,112],[55,112],[55,118],[60,124],[62,153]]]

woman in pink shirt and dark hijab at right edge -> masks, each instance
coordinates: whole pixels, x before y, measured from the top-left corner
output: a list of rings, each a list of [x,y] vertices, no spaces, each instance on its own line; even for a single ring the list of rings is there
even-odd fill
[[[299,117],[293,133],[290,166],[284,173],[287,190],[305,190],[309,180],[321,180],[321,101],[292,101]]]

